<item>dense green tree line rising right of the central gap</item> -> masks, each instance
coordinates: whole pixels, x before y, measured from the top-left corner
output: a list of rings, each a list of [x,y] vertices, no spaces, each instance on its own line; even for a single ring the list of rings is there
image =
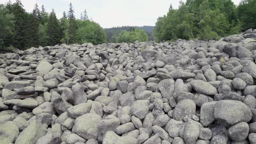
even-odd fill
[[[154,36],[158,41],[176,39],[219,39],[256,28],[256,0],[187,0],[177,10],[172,5],[159,17]]]

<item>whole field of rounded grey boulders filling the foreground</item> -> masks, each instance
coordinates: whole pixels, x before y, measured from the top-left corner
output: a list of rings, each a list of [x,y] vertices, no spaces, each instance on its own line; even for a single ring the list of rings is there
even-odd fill
[[[256,144],[256,29],[0,54],[0,144]]]

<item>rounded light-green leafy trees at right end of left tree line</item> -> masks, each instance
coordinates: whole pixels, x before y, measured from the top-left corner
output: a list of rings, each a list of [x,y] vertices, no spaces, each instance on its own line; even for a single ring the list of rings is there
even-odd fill
[[[106,34],[104,29],[94,21],[90,20],[76,20],[77,36],[79,43],[101,44],[106,41]]]

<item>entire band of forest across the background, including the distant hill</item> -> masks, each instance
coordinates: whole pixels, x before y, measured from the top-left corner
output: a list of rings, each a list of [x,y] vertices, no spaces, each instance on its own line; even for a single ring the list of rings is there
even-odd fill
[[[136,40],[219,39],[256,28],[256,0],[187,0],[170,6],[155,26],[121,26],[103,29],[88,19],[86,10],[76,18],[72,3],[58,19],[54,9],[35,5],[29,13],[21,0],[0,4],[0,51],[54,46],[58,43],[132,43]],[[154,28],[154,29],[153,29]],[[153,30],[152,30],[153,29]],[[153,32],[154,31],[154,32]]]

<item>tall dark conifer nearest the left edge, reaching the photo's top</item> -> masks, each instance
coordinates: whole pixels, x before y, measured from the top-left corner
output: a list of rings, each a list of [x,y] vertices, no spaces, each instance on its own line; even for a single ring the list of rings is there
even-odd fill
[[[16,0],[16,3],[13,4],[13,14],[15,20],[15,31],[14,31],[14,43],[15,47],[18,49],[23,49],[25,47],[25,21],[24,14],[25,10],[23,9],[23,5],[20,0]]]

